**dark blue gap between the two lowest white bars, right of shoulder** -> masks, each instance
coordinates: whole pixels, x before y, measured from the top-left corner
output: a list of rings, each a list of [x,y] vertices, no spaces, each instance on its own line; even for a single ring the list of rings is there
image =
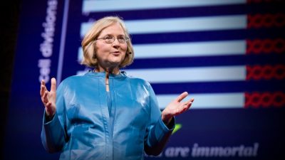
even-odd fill
[[[171,76],[171,75],[170,75]],[[152,83],[153,90],[158,95],[194,93],[224,93],[224,92],[274,92],[284,91],[285,80],[233,81],[233,82],[180,82]]]

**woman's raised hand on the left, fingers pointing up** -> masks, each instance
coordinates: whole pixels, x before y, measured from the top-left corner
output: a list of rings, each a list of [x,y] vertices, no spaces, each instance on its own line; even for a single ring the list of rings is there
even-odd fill
[[[46,110],[48,119],[52,119],[56,114],[56,78],[51,78],[51,90],[46,89],[46,82],[41,80],[41,101]]]

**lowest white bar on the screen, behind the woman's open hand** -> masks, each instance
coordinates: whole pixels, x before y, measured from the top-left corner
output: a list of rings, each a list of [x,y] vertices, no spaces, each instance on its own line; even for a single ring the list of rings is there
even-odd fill
[[[157,101],[160,109],[164,109],[178,95],[157,95]],[[212,109],[212,108],[242,108],[244,107],[244,93],[211,93],[211,94],[191,94],[188,95],[185,102],[194,97],[192,109]]]

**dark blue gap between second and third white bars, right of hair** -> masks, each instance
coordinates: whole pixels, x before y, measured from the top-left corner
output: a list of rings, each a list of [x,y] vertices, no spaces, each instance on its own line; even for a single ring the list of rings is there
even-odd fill
[[[285,37],[283,28],[195,31],[180,33],[149,33],[131,35],[133,44],[175,43],[197,41],[228,41],[254,38]]]

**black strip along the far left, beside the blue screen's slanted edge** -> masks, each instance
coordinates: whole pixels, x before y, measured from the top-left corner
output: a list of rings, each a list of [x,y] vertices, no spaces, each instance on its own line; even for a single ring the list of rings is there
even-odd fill
[[[21,1],[13,0],[1,3],[1,29],[0,29],[0,50],[1,50],[1,78],[0,78],[0,145],[3,159],[4,128],[6,125],[9,95],[11,92],[11,75],[14,66],[14,53],[16,49],[16,39],[19,29],[19,16],[21,11]]]

